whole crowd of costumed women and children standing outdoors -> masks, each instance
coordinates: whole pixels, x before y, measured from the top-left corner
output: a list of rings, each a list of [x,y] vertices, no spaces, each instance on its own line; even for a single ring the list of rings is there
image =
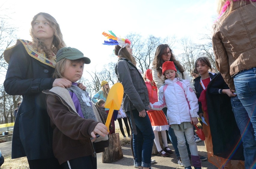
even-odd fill
[[[121,107],[107,127],[109,109],[104,106],[110,85],[103,80],[101,90],[90,98],[78,82],[90,59],[66,47],[53,16],[36,14],[32,42],[18,39],[4,51],[9,64],[5,91],[23,95],[15,112],[12,158],[26,156],[31,169],[95,169],[96,153],[108,147],[116,119],[126,137],[123,119],[135,168],[151,168],[154,143],[157,155],[173,153],[166,130],[177,163],[185,169],[192,169],[191,163],[200,169],[207,159],[197,151],[196,142],[202,139],[209,162],[217,168],[255,168],[255,1],[218,0],[212,45],[219,73],[207,57],[198,57],[191,78],[169,45],[161,44],[142,77],[130,40],[103,32],[108,38],[104,44],[114,45],[115,73],[124,89]],[[199,122],[205,138],[195,133]]]

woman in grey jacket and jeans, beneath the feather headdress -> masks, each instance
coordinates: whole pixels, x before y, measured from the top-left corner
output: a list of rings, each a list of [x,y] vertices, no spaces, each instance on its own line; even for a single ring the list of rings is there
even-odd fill
[[[124,89],[122,108],[132,124],[135,164],[148,169],[154,141],[151,122],[145,110],[149,105],[148,90],[136,68],[130,45],[130,41],[122,47],[115,45],[115,55],[119,57],[115,72]]]

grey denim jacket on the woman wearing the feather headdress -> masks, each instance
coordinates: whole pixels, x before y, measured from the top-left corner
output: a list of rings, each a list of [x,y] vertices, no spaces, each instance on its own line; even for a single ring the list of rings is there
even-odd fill
[[[148,109],[148,89],[136,66],[125,58],[119,58],[115,66],[118,81],[122,83],[124,93],[122,108],[124,112],[137,109],[139,112]]]

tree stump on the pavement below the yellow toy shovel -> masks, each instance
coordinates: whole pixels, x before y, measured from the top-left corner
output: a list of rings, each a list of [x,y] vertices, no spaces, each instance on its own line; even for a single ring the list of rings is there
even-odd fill
[[[109,135],[109,146],[102,152],[102,163],[116,162],[123,158],[119,133]]]

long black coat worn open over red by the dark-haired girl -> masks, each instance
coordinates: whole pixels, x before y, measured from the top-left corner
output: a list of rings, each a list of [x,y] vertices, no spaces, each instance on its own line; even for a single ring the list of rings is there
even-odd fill
[[[219,89],[229,89],[220,73],[211,74],[211,81],[206,90],[209,125],[212,135],[213,154],[231,160],[244,160],[241,135],[232,111],[230,97],[219,93]],[[200,85],[201,77],[194,79],[197,97],[203,88]],[[199,102],[202,112],[202,104]],[[237,144],[239,143],[239,144]]]

